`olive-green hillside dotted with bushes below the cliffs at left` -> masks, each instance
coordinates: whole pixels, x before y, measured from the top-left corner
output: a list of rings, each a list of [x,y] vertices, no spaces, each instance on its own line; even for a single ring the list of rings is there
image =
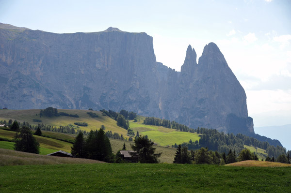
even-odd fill
[[[107,117],[102,116],[102,112],[100,111],[88,111],[88,110],[72,110],[72,109],[58,109],[58,112],[64,112],[68,114],[75,115],[77,114],[79,118],[59,116],[59,117],[45,117],[39,116],[40,109],[29,109],[29,110],[0,110],[0,120],[9,119],[17,120],[20,122],[28,121],[30,124],[37,125],[39,122],[33,122],[33,119],[41,120],[43,124],[52,125],[54,127],[58,126],[66,126],[69,124],[74,125],[74,122],[86,122],[88,123],[87,127],[79,127],[81,130],[90,131],[96,130],[101,127],[101,125],[105,126],[105,131],[112,131],[113,133],[123,134],[126,136],[127,131],[121,127],[116,125],[116,121]],[[96,113],[98,118],[91,118],[87,112]],[[76,125],[75,125],[76,126]]]

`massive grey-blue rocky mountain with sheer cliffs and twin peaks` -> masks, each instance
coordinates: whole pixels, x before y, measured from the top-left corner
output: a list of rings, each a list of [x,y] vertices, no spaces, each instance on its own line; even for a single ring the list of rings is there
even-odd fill
[[[253,134],[246,95],[217,45],[181,72],[156,61],[145,32],[56,34],[0,24],[0,105],[10,109],[127,109],[192,128]]]

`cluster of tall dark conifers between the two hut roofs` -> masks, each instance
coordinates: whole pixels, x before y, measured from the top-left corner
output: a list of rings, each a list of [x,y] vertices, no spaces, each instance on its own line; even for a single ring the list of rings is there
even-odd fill
[[[75,139],[71,154],[77,158],[87,158],[104,162],[113,162],[112,148],[109,138],[102,128],[98,131],[90,131],[85,139],[83,133],[79,133]]]

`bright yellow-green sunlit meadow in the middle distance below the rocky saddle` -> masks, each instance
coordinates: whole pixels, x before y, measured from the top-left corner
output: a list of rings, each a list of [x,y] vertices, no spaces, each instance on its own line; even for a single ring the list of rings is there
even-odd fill
[[[160,146],[171,146],[175,143],[182,144],[183,142],[188,143],[190,139],[196,141],[200,139],[198,134],[189,132],[178,132],[175,129],[169,129],[161,126],[144,125],[142,116],[139,116],[138,122],[129,121],[130,128],[136,133],[147,135],[149,139],[153,140]]]

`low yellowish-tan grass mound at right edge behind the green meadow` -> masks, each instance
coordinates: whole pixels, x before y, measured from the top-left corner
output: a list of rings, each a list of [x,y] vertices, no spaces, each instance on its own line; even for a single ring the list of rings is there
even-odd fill
[[[278,162],[262,162],[255,160],[246,160],[242,162],[229,163],[226,166],[243,166],[243,167],[291,167],[288,163],[278,163]]]

